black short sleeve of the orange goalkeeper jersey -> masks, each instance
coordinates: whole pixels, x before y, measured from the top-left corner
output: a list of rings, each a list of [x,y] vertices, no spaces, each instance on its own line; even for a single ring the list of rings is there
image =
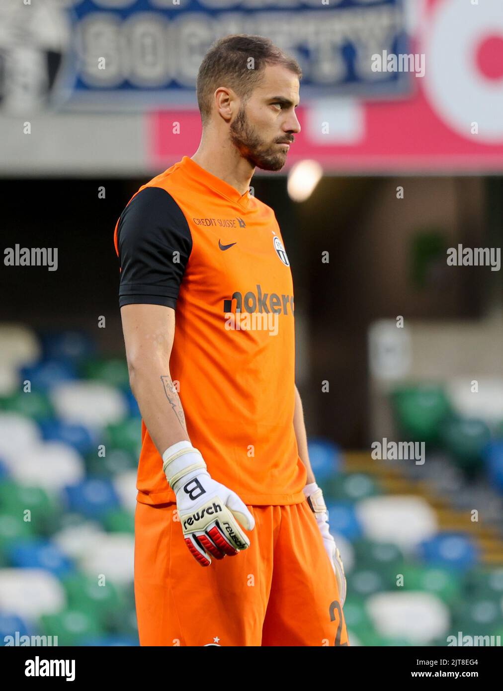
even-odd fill
[[[119,219],[117,249],[121,266],[119,306],[147,303],[176,307],[192,251],[189,224],[173,197],[145,187]],[[180,260],[173,261],[173,252]]]

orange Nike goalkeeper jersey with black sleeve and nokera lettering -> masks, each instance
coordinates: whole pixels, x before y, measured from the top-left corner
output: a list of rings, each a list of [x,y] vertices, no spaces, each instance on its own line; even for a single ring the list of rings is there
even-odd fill
[[[245,504],[302,502],[294,292],[274,211],[184,156],[135,193],[114,241],[120,307],[176,310],[169,370],[211,476]],[[143,421],[137,490],[175,501]]]

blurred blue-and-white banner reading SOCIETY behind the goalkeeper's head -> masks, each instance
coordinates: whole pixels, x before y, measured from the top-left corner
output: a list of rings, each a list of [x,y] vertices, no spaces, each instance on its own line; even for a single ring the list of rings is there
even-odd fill
[[[0,6],[10,48],[28,37],[39,51],[38,63],[33,56],[23,65],[19,98],[31,88],[36,100],[45,89],[60,108],[196,106],[202,57],[213,41],[236,33],[269,37],[296,57],[303,99],[394,96],[410,84],[404,72],[371,68],[375,53],[408,52],[404,0],[32,0],[28,6],[1,0]]]

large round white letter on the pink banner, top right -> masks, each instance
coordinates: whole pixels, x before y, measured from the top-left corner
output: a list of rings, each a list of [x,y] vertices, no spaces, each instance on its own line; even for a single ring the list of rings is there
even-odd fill
[[[430,106],[455,132],[486,144],[503,142],[503,86],[477,70],[475,51],[484,40],[503,37],[501,0],[474,6],[444,0],[431,12],[426,41],[429,72],[424,88]],[[471,134],[471,122],[479,133]]]

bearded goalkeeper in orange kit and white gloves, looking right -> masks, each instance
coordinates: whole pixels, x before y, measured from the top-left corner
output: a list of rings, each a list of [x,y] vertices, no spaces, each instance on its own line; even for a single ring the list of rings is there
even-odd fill
[[[349,645],[294,379],[290,261],[249,193],[300,131],[301,76],[269,39],[217,41],[198,73],[198,151],[142,185],[115,227],[142,414],[141,645]]]

